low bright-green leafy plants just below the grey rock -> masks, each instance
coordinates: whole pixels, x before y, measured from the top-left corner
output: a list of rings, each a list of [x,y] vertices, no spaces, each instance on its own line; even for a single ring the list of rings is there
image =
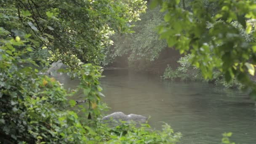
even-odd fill
[[[170,125],[162,125],[162,131],[152,131],[148,124],[143,124],[140,128],[126,123],[117,126],[112,130],[115,135],[111,136],[109,143],[124,144],[177,144],[181,138],[181,133],[174,133]]]

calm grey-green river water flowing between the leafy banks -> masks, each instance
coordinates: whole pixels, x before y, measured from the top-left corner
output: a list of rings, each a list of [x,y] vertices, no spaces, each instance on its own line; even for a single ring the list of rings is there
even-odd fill
[[[256,144],[256,105],[247,93],[202,82],[161,81],[127,70],[107,70],[103,75],[103,101],[112,108],[108,114],[151,116],[153,128],[165,122],[181,132],[181,144],[221,144],[224,132],[232,132],[236,144]],[[56,78],[66,88],[78,83],[65,75]]]

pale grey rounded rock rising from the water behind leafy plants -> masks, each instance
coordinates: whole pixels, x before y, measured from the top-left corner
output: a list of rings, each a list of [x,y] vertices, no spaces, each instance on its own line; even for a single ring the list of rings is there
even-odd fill
[[[128,123],[135,122],[136,124],[146,123],[147,117],[142,115],[125,115],[123,112],[114,112],[102,118],[103,122],[118,124],[120,121],[126,121]]]

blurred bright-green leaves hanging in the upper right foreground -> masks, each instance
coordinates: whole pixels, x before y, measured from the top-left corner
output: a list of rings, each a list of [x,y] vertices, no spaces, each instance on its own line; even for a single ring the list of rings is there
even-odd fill
[[[254,40],[254,0],[218,0],[215,13],[208,11],[201,0],[191,2],[191,10],[182,8],[180,0],[155,0],[155,3],[161,5],[165,13],[165,22],[158,27],[158,32],[169,47],[194,55],[192,64],[201,69],[205,79],[212,79],[217,69],[227,82],[236,77],[255,95],[256,84],[248,75],[254,75],[255,43],[240,35],[242,26]]]

